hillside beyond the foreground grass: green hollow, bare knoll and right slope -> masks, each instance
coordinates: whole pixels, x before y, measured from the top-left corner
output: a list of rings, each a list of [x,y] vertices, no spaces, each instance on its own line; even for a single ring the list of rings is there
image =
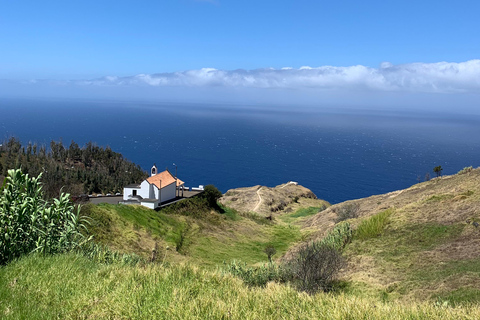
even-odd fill
[[[346,292],[382,300],[480,301],[480,169],[333,206],[293,183],[229,190],[220,202],[225,213],[202,218],[100,205],[95,212],[109,216],[114,227],[102,226],[110,231],[97,231],[97,240],[144,256],[157,242],[169,248],[172,263],[258,265],[267,262],[267,245],[283,260],[301,243],[324,237],[343,208],[356,204],[357,216],[347,219],[353,229],[388,214],[376,234],[354,237],[346,247],[348,266],[340,277]],[[132,220],[139,210],[143,222]]]

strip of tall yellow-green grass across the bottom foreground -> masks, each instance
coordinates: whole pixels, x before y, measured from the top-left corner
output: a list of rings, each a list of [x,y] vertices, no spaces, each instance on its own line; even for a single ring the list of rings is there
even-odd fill
[[[471,293],[474,295],[474,293]],[[309,296],[248,287],[185,265],[103,265],[77,255],[29,256],[0,268],[2,319],[478,319],[480,307]]]

